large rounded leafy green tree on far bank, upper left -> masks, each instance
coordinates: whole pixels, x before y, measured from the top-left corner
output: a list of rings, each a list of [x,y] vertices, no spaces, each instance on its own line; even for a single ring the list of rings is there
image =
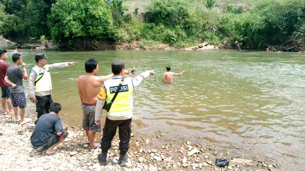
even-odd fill
[[[103,0],[59,0],[52,5],[48,24],[52,38],[59,43],[115,39],[111,12]]]

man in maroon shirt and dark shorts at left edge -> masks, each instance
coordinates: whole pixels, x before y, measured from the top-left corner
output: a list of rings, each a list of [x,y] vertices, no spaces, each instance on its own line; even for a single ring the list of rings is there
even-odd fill
[[[9,91],[9,84],[5,82],[5,74],[6,70],[9,68],[9,64],[5,63],[7,60],[7,52],[6,50],[0,50],[0,87],[1,87],[1,104],[2,104],[2,112],[13,114],[13,105],[11,100],[11,93]],[[7,107],[5,105],[7,103]]]

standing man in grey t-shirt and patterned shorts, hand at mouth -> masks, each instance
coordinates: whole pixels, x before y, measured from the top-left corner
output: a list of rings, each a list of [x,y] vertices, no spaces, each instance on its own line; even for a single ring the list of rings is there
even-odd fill
[[[31,121],[30,118],[25,118],[25,107],[27,107],[27,101],[25,99],[23,80],[27,80],[27,66],[22,61],[22,56],[18,53],[13,54],[13,65],[10,66],[5,75],[5,81],[10,84],[9,91],[11,92],[11,99],[14,108],[15,121],[20,124],[25,124]],[[21,69],[19,65],[22,65]],[[20,117],[18,116],[18,107],[20,111]]]

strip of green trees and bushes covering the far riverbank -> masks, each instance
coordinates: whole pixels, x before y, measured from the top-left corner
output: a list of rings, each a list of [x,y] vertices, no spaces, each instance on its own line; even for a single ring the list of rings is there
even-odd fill
[[[0,0],[0,34],[100,50],[137,42],[305,49],[305,0]]]

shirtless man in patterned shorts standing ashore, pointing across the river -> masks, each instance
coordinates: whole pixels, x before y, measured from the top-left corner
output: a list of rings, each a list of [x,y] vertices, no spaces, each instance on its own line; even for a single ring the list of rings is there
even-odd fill
[[[101,124],[96,125],[94,123],[97,95],[103,82],[111,79],[113,74],[104,77],[96,76],[99,72],[99,64],[94,59],[85,63],[85,70],[87,74],[78,77],[77,87],[83,110],[83,128],[88,136],[89,149],[96,149],[100,146],[100,143],[94,143],[95,133],[102,131]],[[127,70],[127,72],[130,72],[130,70]]]

